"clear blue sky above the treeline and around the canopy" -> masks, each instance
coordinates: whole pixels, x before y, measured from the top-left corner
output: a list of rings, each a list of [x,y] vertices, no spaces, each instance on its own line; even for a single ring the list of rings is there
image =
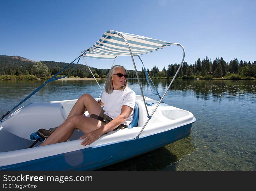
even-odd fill
[[[105,31],[115,30],[180,43],[188,64],[255,58],[256,1],[183,0],[0,0],[0,55],[70,63]],[[183,51],[169,46],[142,55],[146,68],[161,71],[179,64]],[[109,69],[112,60],[86,58],[89,66]],[[85,64],[83,59],[79,61]],[[135,59],[136,67],[142,64]],[[115,64],[134,69],[130,56]]]

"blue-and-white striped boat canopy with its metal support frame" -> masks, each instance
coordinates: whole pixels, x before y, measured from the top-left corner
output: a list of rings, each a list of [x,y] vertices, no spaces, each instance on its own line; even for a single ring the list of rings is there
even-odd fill
[[[84,57],[96,58],[96,59],[114,59],[114,61],[113,61],[113,64],[114,64],[115,59],[118,56],[131,56],[131,60],[132,60],[133,65],[134,65],[135,73],[136,73],[136,76],[137,76],[137,79],[138,79],[138,85],[139,85],[140,90],[141,90],[142,99],[143,99],[145,109],[146,109],[146,112],[147,112],[147,117],[148,117],[147,122],[144,124],[140,133],[136,136],[136,139],[139,138],[143,129],[145,128],[145,126],[147,125],[149,120],[151,119],[152,115],[155,113],[157,107],[162,102],[163,97],[161,98],[160,94],[158,93],[160,101],[157,103],[157,106],[153,110],[152,114],[149,115],[149,112],[147,110],[146,101],[145,101],[145,98],[144,98],[144,94],[143,94],[143,91],[142,91],[141,83],[140,83],[140,80],[139,80],[138,71],[136,69],[136,65],[135,65],[133,56],[138,56],[138,58],[141,60],[140,55],[147,54],[147,53],[150,53],[150,52],[154,52],[154,51],[163,49],[163,48],[165,48],[167,46],[170,46],[170,45],[180,46],[183,50],[183,58],[182,58],[182,61],[179,65],[179,68],[177,69],[176,74],[173,76],[172,81],[170,82],[167,90],[163,94],[163,97],[164,97],[166,92],[170,88],[171,84],[173,83],[173,80],[176,78],[176,76],[177,76],[177,74],[178,74],[178,72],[179,72],[179,70],[182,66],[182,63],[184,61],[185,51],[184,51],[184,48],[181,44],[166,42],[166,41],[162,41],[162,40],[156,40],[156,39],[148,38],[148,37],[145,37],[145,36],[139,36],[139,35],[134,35],[134,34],[122,33],[122,32],[118,32],[118,31],[109,30],[109,31],[106,31],[102,35],[102,37],[95,44],[93,44],[93,46],[91,46],[87,50],[84,50],[84,51],[81,52],[81,56],[82,56],[85,63],[86,63],[86,60],[85,60]],[[142,60],[141,60],[141,62],[143,64]],[[113,66],[113,64],[112,64],[112,66]],[[91,71],[91,69],[90,69],[90,67],[88,66],[87,63],[86,63],[86,65],[87,65],[87,67],[89,68],[90,72],[93,75],[93,72]],[[143,64],[143,67],[144,67],[144,64]],[[145,74],[146,74],[147,71],[146,71],[145,67],[144,67],[144,70],[145,70]],[[95,78],[94,75],[93,75],[93,77]],[[96,78],[95,78],[95,80],[96,80]],[[147,78],[147,81],[148,81],[148,78]],[[96,80],[96,82],[97,82],[97,80]],[[98,85],[99,85],[99,83],[98,83]],[[105,83],[104,83],[104,85],[105,85]],[[103,85],[103,88],[104,88],[104,85]],[[100,85],[99,85],[99,88],[103,91],[103,88],[101,88]],[[101,96],[102,91],[101,91],[99,97]]]

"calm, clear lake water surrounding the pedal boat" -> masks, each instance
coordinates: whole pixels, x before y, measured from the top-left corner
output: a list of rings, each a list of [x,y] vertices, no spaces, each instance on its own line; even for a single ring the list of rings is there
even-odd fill
[[[129,87],[140,95],[138,81]],[[160,95],[170,81],[153,79]],[[0,81],[0,115],[16,106],[43,81]],[[103,86],[104,80],[99,84]],[[146,80],[144,95],[155,100]],[[36,101],[98,97],[94,80],[49,83],[22,104]],[[180,80],[173,82],[163,101],[193,113],[191,135],[165,147],[99,170],[256,170],[256,81]]]

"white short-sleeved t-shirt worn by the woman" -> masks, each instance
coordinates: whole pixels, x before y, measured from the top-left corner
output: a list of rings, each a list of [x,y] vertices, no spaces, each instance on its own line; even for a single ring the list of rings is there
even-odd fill
[[[111,94],[106,91],[103,92],[101,101],[104,103],[105,114],[114,119],[121,113],[122,106],[129,106],[134,109],[135,106],[135,92],[130,88],[125,90],[113,90]],[[122,124],[129,125],[133,119],[134,110]]]

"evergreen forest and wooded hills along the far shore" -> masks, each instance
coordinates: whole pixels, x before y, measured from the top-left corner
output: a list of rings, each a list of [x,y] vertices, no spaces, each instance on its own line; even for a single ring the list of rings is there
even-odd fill
[[[42,61],[35,62],[20,56],[5,56],[0,55],[0,79],[19,79],[10,78],[7,76],[29,76],[27,79],[44,78],[47,79],[50,76],[56,74],[61,69],[66,67],[68,63],[54,62],[54,61]],[[173,78],[179,64],[169,64],[168,67],[164,67],[159,70],[157,66],[154,66],[151,70],[142,67],[141,71],[138,71],[140,78],[146,78],[145,71],[151,78]],[[99,69],[90,67],[96,78],[105,78],[109,69]],[[136,78],[134,70],[128,70],[129,78]],[[92,78],[92,74],[86,65],[72,64],[65,69],[60,75],[79,78]],[[237,58],[226,62],[223,57],[215,58],[213,61],[208,57],[202,61],[198,58],[192,65],[185,61],[177,74],[178,78],[183,79],[255,79],[256,78],[256,61],[243,61]]]

